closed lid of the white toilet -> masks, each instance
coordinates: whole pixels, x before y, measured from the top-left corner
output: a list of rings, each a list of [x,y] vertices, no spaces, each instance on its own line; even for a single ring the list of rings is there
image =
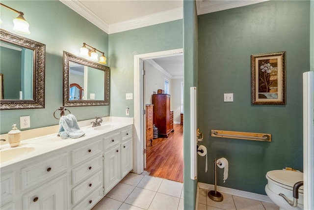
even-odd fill
[[[289,170],[269,171],[267,172],[266,177],[276,182],[290,186],[290,187],[293,187],[293,185],[298,181],[303,181],[302,172],[289,171]],[[303,189],[303,186],[301,186],[300,188]]]

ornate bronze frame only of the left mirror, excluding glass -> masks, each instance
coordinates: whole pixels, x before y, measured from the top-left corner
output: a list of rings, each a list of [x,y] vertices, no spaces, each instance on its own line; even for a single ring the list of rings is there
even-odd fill
[[[34,52],[33,98],[30,100],[0,100],[0,110],[45,108],[46,45],[0,29],[0,41],[28,48]]]

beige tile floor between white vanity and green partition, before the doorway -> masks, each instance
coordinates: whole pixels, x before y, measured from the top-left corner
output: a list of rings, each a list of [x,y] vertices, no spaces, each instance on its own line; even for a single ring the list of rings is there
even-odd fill
[[[93,210],[183,210],[183,183],[129,173]]]

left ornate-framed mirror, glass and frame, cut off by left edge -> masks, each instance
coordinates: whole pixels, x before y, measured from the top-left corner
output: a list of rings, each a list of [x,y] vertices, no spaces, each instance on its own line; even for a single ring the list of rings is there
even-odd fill
[[[46,45],[0,29],[0,110],[45,108]]]

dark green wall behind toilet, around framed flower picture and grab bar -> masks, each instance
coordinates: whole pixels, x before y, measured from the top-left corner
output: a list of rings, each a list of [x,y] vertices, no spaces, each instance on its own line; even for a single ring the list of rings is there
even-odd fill
[[[303,170],[302,73],[310,69],[310,1],[266,1],[200,15],[199,127],[209,169],[199,158],[199,181],[214,183],[214,158],[226,157],[229,177],[218,185],[265,194],[267,171]],[[251,105],[251,54],[286,51],[286,105]],[[224,103],[223,93],[234,93]],[[210,130],[270,133],[271,142],[210,137]]]

